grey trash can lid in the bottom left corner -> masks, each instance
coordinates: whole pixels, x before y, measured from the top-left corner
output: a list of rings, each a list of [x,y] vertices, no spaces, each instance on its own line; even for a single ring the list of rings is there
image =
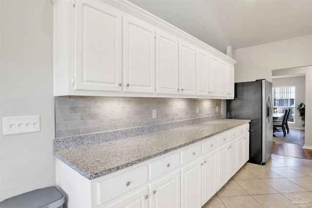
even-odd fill
[[[0,208],[63,208],[65,195],[56,187],[32,190],[0,202]]]

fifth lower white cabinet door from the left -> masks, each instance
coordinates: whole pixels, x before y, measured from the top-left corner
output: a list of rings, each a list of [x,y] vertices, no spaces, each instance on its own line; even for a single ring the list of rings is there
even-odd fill
[[[221,189],[228,181],[228,144],[217,149],[217,189]]]

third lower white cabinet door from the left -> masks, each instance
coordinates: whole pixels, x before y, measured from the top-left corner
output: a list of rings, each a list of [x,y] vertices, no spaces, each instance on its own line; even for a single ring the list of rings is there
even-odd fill
[[[181,208],[201,208],[201,157],[181,168]]]

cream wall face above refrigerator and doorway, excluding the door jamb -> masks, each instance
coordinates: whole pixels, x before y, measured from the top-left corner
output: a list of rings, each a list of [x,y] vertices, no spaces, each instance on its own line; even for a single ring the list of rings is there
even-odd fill
[[[267,79],[272,70],[312,65],[312,35],[234,50],[235,82]]]

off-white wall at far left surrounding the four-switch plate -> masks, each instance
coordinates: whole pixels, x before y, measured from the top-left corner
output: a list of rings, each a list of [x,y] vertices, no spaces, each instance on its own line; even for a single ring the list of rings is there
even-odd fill
[[[55,186],[53,5],[0,0],[0,201]],[[41,131],[2,134],[2,117],[40,115]]]

